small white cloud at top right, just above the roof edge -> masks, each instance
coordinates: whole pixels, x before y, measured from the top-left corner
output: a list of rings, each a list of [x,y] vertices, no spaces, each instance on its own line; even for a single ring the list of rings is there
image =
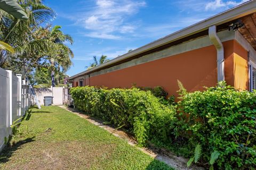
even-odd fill
[[[230,7],[234,7],[234,6],[237,6],[239,4],[242,4],[242,3],[245,3],[247,2],[248,0],[243,0],[243,1],[240,1],[240,2],[235,2],[235,1],[222,1],[222,0],[215,0],[215,1],[212,1],[212,2],[209,2],[205,5],[205,10],[217,10],[217,8],[230,8]]]

